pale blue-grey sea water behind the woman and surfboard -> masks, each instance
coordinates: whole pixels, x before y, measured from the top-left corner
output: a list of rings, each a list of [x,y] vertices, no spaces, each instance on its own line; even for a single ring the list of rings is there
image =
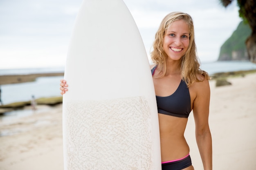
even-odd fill
[[[202,63],[201,68],[207,71],[209,75],[220,72],[243,71],[256,69],[256,64],[249,61],[231,61],[231,62],[208,62]],[[63,73],[63,68],[27,68],[27,69],[9,69],[1,70],[0,75],[18,75],[31,73]],[[61,96],[59,90],[60,79],[63,76],[38,77],[35,82],[26,82],[19,84],[1,85],[1,100],[3,104],[13,102],[29,101],[31,96],[40,97],[58,97]]]

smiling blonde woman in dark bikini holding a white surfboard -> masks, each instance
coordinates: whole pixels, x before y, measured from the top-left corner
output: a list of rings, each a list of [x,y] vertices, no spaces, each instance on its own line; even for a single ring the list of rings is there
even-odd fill
[[[200,70],[190,15],[173,12],[155,35],[151,66],[159,117],[162,170],[193,170],[184,131],[193,110],[204,170],[212,170],[209,75]],[[61,80],[61,94],[67,91]]]

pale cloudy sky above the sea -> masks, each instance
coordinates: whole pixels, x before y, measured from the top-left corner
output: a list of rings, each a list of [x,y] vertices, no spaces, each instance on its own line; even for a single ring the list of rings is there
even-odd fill
[[[0,69],[64,67],[76,14],[83,0],[0,0]],[[109,0],[110,2],[112,0]],[[201,62],[218,59],[241,18],[236,1],[124,0],[150,53],[155,32],[172,11],[189,13]]]

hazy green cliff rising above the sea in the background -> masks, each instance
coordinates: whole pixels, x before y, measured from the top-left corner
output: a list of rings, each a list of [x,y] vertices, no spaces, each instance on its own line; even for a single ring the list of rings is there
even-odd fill
[[[221,46],[218,61],[249,60],[245,41],[251,33],[249,25],[241,21],[231,37]]]

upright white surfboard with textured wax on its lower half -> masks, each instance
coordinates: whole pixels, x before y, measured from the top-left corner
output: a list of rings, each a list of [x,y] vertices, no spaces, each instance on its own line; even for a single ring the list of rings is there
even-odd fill
[[[122,0],[82,2],[64,78],[65,170],[161,169],[149,61]]]

